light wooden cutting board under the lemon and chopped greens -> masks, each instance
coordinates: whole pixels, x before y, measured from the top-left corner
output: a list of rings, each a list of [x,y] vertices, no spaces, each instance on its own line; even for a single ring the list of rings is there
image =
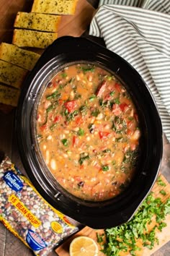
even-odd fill
[[[166,187],[161,187],[160,185],[158,185],[156,183],[153,186],[152,191],[153,191],[154,197],[161,197],[162,202],[165,202],[170,197],[170,184],[169,184],[169,182],[166,181],[166,179],[164,178],[163,175],[161,175],[160,177],[161,177],[161,180],[166,184]],[[159,193],[159,191],[161,189],[164,189],[164,191],[166,192],[165,196],[163,196]],[[158,231],[158,230],[156,231],[156,236],[158,237],[159,244],[156,244],[155,247],[153,247],[153,249],[148,249],[146,247],[142,247],[142,244],[140,243],[140,241],[138,241],[138,246],[141,247],[141,250],[136,252],[137,256],[150,256],[151,254],[153,254],[153,252],[156,252],[156,250],[158,250],[164,244],[166,244],[166,242],[169,242],[169,240],[170,240],[170,215],[166,216],[165,222],[166,222],[167,226],[162,231]],[[155,221],[153,220],[151,225],[148,227],[148,229],[151,230],[154,225],[155,225]],[[92,239],[94,239],[94,241],[97,242],[97,233],[103,234],[103,232],[104,232],[103,229],[95,230],[95,229],[91,229],[88,226],[86,226],[86,227],[84,227],[84,229],[81,229],[81,231],[79,231],[78,233],[71,236],[71,238],[66,240],[66,242],[61,244],[60,247],[55,249],[55,252],[59,256],[69,256],[69,245],[75,237],[89,236]],[[99,247],[99,244],[98,244],[98,247]],[[100,247],[99,247],[99,249],[100,249]],[[104,256],[104,254],[99,251],[98,256]],[[130,254],[128,252],[122,252],[120,254],[120,256],[130,256]]]

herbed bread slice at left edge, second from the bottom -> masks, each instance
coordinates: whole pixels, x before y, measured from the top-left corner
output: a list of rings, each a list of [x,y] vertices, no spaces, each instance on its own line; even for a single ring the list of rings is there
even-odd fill
[[[21,67],[0,60],[0,82],[3,82],[6,85],[21,88],[27,72],[27,70],[22,69]]]

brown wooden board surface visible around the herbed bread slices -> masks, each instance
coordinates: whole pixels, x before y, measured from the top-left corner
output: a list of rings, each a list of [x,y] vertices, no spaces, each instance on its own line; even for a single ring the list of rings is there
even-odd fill
[[[0,1],[0,43],[12,43],[14,20],[17,12],[31,12],[32,0]],[[73,15],[63,15],[58,27],[58,37],[63,35],[80,36],[88,28],[94,14],[94,7],[86,0],[79,0]]]

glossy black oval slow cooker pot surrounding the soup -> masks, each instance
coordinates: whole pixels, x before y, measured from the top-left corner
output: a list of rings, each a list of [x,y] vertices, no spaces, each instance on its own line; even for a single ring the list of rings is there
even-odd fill
[[[96,64],[121,80],[138,109],[142,129],[140,161],[133,182],[121,195],[104,202],[84,201],[66,192],[45,165],[36,140],[36,110],[43,90],[61,68],[80,62]],[[156,181],[163,148],[156,103],[127,61],[91,40],[63,37],[45,50],[24,82],[16,128],[22,163],[40,195],[54,208],[94,229],[129,221]]]

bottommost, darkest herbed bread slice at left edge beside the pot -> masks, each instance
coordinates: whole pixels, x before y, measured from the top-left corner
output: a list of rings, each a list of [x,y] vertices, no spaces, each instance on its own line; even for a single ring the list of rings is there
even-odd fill
[[[0,83],[0,103],[17,106],[19,100],[20,90],[9,88],[8,86],[1,85]]]

